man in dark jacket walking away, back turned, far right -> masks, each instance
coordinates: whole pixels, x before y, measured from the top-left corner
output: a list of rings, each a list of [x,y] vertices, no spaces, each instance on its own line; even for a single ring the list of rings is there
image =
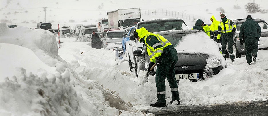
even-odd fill
[[[256,57],[258,53],[258,40],[261,36],[261,27],[258,22],[252,20],[251,15],[247,16],[247,20],[242,23],[240,27],[240,44],[243,45],[245,42],[246,48],[246,59],[247,63],[250,65],[252,58],[256,62]]]

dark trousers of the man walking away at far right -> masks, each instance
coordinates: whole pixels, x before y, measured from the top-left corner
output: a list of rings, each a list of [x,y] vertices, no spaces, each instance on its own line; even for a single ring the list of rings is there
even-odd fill
[[[250,64],[252,61],[251,54],[255,54],[257,57],[258,38],[248,36],[245,38],[244,42],[245,42],[245,48],[246,48],[247,63]]]

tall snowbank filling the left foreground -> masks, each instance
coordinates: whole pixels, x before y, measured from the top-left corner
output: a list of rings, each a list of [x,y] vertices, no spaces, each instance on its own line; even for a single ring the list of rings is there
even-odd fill
[[[0,23],[0,115],[145,115],[117,92],[76,74],[55,40],[47,30]]]

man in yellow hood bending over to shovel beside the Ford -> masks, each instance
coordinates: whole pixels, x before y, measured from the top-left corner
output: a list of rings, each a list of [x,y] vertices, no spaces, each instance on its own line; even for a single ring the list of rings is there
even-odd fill
[[[150,64],[148,70],[156,63],[155,83],[157,88],[157,102],[151,104],[152,107],[166,107],[166,85],[167,78],[171,88],[172,100],[177,100],[180,104],[177,80],[175,78],[175,64],[178,61],[177,51],[173,45],[160,34],[148,32],[144,27],[134,31],[134,37],[146,45]]]

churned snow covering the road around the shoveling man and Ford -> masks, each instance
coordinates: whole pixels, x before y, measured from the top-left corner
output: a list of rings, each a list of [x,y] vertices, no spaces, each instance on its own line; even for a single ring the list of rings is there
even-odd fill
[[[97,80],[104,88],[116,91],[126,102],[137,109],[147,109],[157,101],[155,77],[149,76],[143,83],[145,71],[138,78],[129,71],[128,62],[116,65],[114,51],[91,48],[91,42],[77,42],[74,38],[60,38],[63,42],[59,55],[73,70]],[[81,53],[83,52],[83,53]],[[257,62],[248,65],[246,58],[236,58],[231,63],[227,58],[227,68],[206,81],[190,82],[181,80],[179,96],[182,105],[223,104],[236,101],[266,101],[268,99],[268,50],[259,50]],[[166,80],[166,100],[171,100],[169,84]],[[169,104],[167,105],[169,106]]]

